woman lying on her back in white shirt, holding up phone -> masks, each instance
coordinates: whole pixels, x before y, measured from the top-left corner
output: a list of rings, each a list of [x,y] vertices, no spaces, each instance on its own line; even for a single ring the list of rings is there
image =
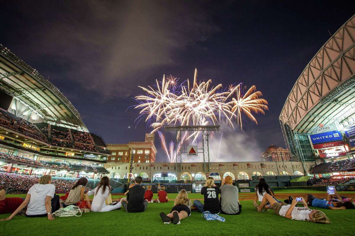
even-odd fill
[[[272,206],[272,209],[275,211],[277,215],[283,216],[287,219],[293,220],[307,220],[314,223],[320,224],[330,224],[331,221],[327,218],[326,214],[318,210],[312,210],[308,208],[307,203],[302,198],[302,203],[304,207],[296,207],[297,201],[294,199],[291,205],[287,205],[286,203],[279,203],[275,201],[275,199],[270,194],[265,194],[263,200],[261,201],[260,206],[253,201],[253,205],[260,212],[269,202]]]

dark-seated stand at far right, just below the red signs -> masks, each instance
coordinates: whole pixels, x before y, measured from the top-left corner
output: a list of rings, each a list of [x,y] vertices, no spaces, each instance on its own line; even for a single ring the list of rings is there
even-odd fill
[[[327,162],[316,165],[312,168],[311,174],[339,172],[339,171],[351,171],[355,169],[355,160],[346,159],[335,162]]]

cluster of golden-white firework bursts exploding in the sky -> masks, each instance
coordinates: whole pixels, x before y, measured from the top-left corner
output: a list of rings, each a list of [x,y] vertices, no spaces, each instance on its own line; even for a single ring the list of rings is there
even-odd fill
[[[166,78],[164,75],[161,82],[156,80],[155,88],[138,86],[146,95],[135,97],[139,102],[135,108],[141,109],[137,120],[146,116],[146,122],[153,128],[152,133],[158,132],[170,162],[175,161],[176,154],[173,154],[174,143],[170,142],[168,148],[160,131],[164,125],[215,125],[223,120],[234,128],[233,121],[237,120],[242,128],[243,114],[257,123],[252,113],[264,114],[264,110],[268,109],[267,101],[260,98],[262,93],[256,91],[255,85],[245,94],[241,84],[230,85],[228,89],[223,88],[222,84],[214,87],[211,79],[197,82],[197,69],[192,84],[189,79],[187,84],[179,84],[178,80],[172,75]],[[181,141],[193,138],[193,142],[197,142],[199,136],[199,132],[192,132]]]

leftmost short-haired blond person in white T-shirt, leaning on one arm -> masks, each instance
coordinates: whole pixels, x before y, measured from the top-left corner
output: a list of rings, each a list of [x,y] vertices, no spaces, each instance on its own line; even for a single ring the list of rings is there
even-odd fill
[[[3,220],[10,220],[27,206],[26,217],[48,217],[54,220],[52,211],[56,210],[59,204],[59,196],[53,199],[55,186],[51,184],[51,176],[43,175],[39,178],[38,184],[34,184],[27,193],[25,200],[14,211],[10,217]]]

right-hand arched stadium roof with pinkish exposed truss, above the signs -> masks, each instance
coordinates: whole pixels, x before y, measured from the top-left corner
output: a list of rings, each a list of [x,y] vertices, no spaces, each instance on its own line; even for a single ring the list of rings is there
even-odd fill
[[[355,113],[355,15],[322,46],[293,86],[281,125],[311,133],[322,123],[341,123]]]

